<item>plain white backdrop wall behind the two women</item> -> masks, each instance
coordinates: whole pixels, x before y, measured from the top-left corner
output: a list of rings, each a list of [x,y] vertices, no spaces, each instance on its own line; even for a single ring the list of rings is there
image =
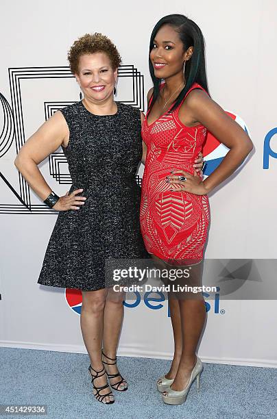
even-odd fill
[[[263,168],[264,139],[276,128],[274,0],[2,1],[0,93],[14,112],[15,136],[12,140],[13,125],[7,125],[4,112],[9,107],[1,97],[1,346],[86,351],[80,316],[67,304],[64,290],[36,283],[56,214],[27,189],[14,158],[45,114],[79,100],[77,84],[67,77],[67,51],[85,33],[109,36],[119,48],[124,71],[132,72],[134,66],[140,73],[136,79],[141,88],[138,84],[136,92],[145,109],[145,93],[152,86],[149,36],[158,19],[171,13],[186,14],[200,25],[206,39],[210,94],[224,109],[243,118],[255,147],[241,173],[210,195],[206,258],[276,258],[276,158],[269,157],[269,168]],[[132,100],[130,81],[119,78],[117,100]],[[274,136],[270,147],[277,151]],[[52,155],[52,174],[48,160],[40,165],[58,194],[69,190],[62,160]],[[119,355],[171,357],[167,301],[160,304],[153,309],[141,301],[125,309]],[[199,354],[204,361],[277,366],[275,325],[275,301],[219,301],[218,313],[211,303]]]

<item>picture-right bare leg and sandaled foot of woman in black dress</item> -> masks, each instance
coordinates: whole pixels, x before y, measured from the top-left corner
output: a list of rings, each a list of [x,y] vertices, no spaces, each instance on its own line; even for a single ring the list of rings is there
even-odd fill
[[[117,357],[117,346],[119,343],[119,335],[121,332],[124,314],[124,298],[124,292],[115,292],[112,288],[109,288],[104,309],[103,352],[107,355],[107,357],[112,359]],[[105,356],[103,357],[103,360],[108,364],[115,362]],[[116,364],[105,364],[105,368],[109,374],[117,374],[119,372]],[[110,383],[112,385],[116,385],[119,381],[121,381],[121,377],[119,376],[110,379]],[[118,390],[123,390],[124,388],[127,388],[125,380],[119,385]]]

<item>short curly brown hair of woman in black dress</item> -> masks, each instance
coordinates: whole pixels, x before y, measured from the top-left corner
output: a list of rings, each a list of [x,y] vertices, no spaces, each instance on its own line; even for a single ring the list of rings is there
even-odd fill
[[[84,36],[81,36],[81,38],[75,40],[71,49],[69,49],[67,59],[69,60],[71,72],[73,74],[79,72],[79,60],[81,55],[99,52],[108,55],[113,70],[119,67],[121,56],[119,55],[119,51],[117,51],[117,47],[115,47],[108,36],[95,32],[95,34],[85,34]]]

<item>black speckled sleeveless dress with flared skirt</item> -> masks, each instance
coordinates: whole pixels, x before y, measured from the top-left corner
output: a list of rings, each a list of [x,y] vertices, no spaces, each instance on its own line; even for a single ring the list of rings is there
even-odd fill
[[[61,110],[69,127],[72,186],[80,210],[59,212],[38,283],[84,291],[106,288],[106,259],[147,258],[139,225],[141,115],[117,102],[115,115],[91,114],[82,101]]]

